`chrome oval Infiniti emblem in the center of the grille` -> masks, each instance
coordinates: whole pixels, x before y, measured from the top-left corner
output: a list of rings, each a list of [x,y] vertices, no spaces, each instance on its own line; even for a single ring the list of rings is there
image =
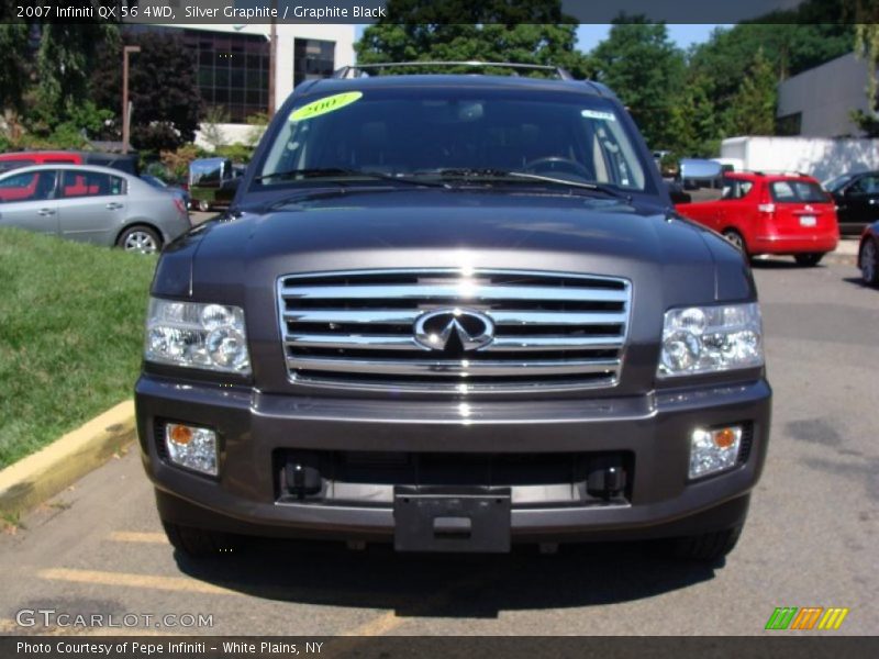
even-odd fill
[[[438,309],[415,321],[415,342],[429,350],[476,350],[494,338],[494,323],[478,311]]]

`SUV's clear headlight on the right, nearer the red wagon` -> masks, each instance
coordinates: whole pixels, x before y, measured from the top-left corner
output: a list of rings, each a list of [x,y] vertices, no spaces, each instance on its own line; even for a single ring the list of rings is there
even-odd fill
[[[760,308],[688,306],[665,315],[658,376],[692,376],[763,366]]]

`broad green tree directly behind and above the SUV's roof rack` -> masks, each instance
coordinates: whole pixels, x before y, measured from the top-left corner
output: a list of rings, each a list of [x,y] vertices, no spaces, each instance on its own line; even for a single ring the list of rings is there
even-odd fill
[[[387,10],[355,44],[358,63],[478,59],[561,66],[579,78],[591,72],[576,48],[577,22],[559,0],[389,0]]]

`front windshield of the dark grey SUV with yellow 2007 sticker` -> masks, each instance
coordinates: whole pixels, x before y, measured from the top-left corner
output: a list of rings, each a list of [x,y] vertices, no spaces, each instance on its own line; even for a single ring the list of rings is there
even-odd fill
[[[626,129],[605,100],[410,88],[307,98],[276,134],[256,169],[255,187],[356,172],[420,180],[528,172],[624,191],[648,185]],[[515,180],[534,185],[536,179]]]

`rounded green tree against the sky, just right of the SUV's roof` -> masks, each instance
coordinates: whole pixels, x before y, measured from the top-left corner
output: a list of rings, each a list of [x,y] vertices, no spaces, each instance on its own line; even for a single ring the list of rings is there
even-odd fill
[[[592,57],[598,79],[617,93],[650,147],[664,148],[675,141],[670,126],[686,67],[665,24],[622,15]]]

